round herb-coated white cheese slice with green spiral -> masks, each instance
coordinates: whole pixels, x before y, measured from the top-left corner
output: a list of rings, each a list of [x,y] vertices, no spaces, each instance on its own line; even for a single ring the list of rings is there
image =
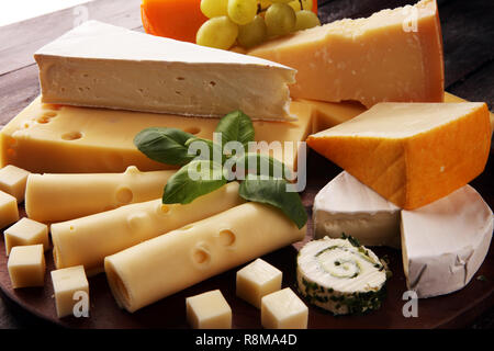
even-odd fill
[[[312,304],[335,315],[362,314],[381,307],[386,270],[366,247],[325,237],[307,242],[296,263],[299,291]]]

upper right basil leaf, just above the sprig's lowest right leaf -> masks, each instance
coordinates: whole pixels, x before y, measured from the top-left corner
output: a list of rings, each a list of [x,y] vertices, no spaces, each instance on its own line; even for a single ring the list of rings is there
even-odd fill
[[[256,167],[256,169],[252,169]],[[255,170],[255,172],[254,172]],[[276,158],[257,152],[247,152],[240,156],[236,162],[236,173],[245,177],[250,174],[266,176],[270,178],[289,178],[291,179],[291,170]]]

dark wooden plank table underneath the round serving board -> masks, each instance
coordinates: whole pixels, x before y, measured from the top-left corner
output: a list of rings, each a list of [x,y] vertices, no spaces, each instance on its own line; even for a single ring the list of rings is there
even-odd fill
[[[414,0],[319,0],[323,23],[343,18],[361,18]],[[141,0],[96,0],[0,27],[0,126],[7,124],[38,93],[37,67],[32,54],[86,19],[101,20],[141,30]],[[494,1],[438,0],[445,46],[446,90],[470,101],[485,101],[494,107]],[[310,156],[310,162],[314,161]],[[493,206],[492,163],[490,171],[473,182],[486,190]],[[329,174],[328,174],[329,176]],[[324,183],[322,183],[324,185]],[[484,195],[485,196],[485,195]],[[311,195],[304,194],[304,197]],[[0,328],[56,326],[37,318],[0,293]],[[465,327],[494,328],[494,310],[484,308]],[[461,325],[461,324],[460,324]]]

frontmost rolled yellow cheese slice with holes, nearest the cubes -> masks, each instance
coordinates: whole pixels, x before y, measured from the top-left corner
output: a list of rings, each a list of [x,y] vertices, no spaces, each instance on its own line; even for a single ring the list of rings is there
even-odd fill
[[[132,313],[305,233],[279,210],[246,203],[109,256],[104,270],[119,306]]]

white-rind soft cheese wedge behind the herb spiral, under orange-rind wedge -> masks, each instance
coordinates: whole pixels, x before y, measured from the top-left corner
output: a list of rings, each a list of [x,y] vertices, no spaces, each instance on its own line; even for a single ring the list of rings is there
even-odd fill
[[[352,236],[361,245],[400,248],[400,208],[344,171],[315,196],[314,236]]]

